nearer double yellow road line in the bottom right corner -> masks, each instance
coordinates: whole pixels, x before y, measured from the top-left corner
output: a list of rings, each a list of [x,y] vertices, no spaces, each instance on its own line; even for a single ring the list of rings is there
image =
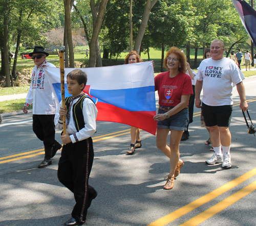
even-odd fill
[[[206,204],[210,200],[218,197],[219,195],[223,194],[224,192],[236,187],[237,185],[245,182],[249,178],[256,175],[256,168],[250,170],[249,172],[241,175],[239,178],[234,179],[233,181],[228,182],[227,184],[217,188],[216,190],[198,198],[192,203],[154,221],[153,223],[148,224],[147,226],[164,226],[167,223],[170,223],[179,217],[187,214],[188,212],[195,210],[196,208]],[[237,202],[239,199],[244,197],[245,195],[249,194],[250,192],[256,190],[256,181],[251,183],[250,185],[246,186],[245,188],[241,189],[240,191],[232,194],[231,196],[225,198],[220,203],[212,206],[211,208],[205,210],[204,212],[198,214],[197,216],[187,220],[186,222],[180,224],[180,226],[196,226],[203,221],[207,220],[208,218],[214,216],[215,214],[219,213],[220,211],[224,210],[228,206],[232,205],[233,203]]]

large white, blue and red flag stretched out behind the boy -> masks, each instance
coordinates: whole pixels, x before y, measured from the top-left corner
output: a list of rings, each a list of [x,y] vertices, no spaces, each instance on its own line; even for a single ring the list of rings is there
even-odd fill
[[[98,109],[97,121],[112,121],[132,125],[156,134],[154,69],[152,61],[109,67],[65,68],[65,96],[67,74],[81,69],[87,73],[84,92]],[[61,101],[59,68],[44,68],[55,98]]]

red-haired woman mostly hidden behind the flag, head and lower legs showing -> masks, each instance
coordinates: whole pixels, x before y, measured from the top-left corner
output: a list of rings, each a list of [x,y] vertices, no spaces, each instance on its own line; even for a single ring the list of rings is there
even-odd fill
[[[138,55],[136,51],[132,51],[130,54],[126,56],[124,64],[139,63],[142,61],[143,60],[140,58],[140,55]],[[135,152],[135,148],[140,148],[140,147],[141,147],[140,129],[136,127],[131,127],[131,144],[130,144],[129,150],[127,151],[127,155],[133,155]]]

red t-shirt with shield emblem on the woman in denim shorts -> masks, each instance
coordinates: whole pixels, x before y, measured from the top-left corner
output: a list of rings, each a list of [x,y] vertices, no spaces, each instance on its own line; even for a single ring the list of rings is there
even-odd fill
[[[169,71],[158,74],[155,90],[158,90],[159,105],[165,107],[175,107],[181,102],[182,95],[193,94],[190,76],[181,71],[174,78],[169,77]]]

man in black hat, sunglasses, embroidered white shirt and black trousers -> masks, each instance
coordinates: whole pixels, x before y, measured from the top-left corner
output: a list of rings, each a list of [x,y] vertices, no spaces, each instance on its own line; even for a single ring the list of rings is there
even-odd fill
[[[31,84],[26,98],[23,112],[28,113],[27,108],[33,103],[33,131],[35,135],[44,141],[45,158],[38,165],[44,168],[52,164],[52,158],[62,146],[55,140],[54,116],[56,112],[55,97],[50,83],[45,74],[44,67],[55,67],[46,61],[49,56],[42,46],[35,46],[29,56],[34,60]]]

